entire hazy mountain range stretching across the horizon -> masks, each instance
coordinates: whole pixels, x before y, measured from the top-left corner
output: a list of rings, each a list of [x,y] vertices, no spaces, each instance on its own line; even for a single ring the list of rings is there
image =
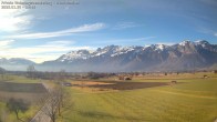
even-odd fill
[[[25,59],[6,61],[0,59],[0,67],[2,62],[8,65],[34,64],[37,70],[41,71],[60,71],[61,69],[72,72],[192,71],[217,64],[217,44],[200,40],[183,41],[173,45],[107,45],[94,51],[71,51],[56,60],[40,64]]]

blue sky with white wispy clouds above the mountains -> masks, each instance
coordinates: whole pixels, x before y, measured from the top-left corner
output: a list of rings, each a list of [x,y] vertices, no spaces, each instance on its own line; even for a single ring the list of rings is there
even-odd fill
[[[111,44],[217,44],[217,0],[20,0],[52,2],[35,9],[2,9],[3,1],[0,58],[40,63]]]

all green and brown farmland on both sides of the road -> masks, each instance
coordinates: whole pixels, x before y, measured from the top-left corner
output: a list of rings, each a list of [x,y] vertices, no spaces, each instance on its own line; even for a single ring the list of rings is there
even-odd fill
[[[3,101],[13,96],[31,102],[30,109],[20,113],[28,121],[40,109],[35,102],[45,92],[40,83],[50,87],[55,83],[9,77],[9,81],[0,82],[0,118],[3,122],[16,121]],[[214,122],[217,119],[217,74],[213,72],[149,73],[127,81],[116,78],[65,79],[72,84],[64,87],[72,105],[63,108],[61,116],[56,114],[58,122]]]

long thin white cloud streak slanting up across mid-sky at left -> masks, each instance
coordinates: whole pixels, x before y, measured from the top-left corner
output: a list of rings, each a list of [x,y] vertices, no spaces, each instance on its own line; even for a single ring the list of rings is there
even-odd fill
[[[104,23],[93,23],[93,24],[83,24],[83,26],[78,27],[78,28],[71,28],[71,29],[53,31],[53,32],[38,32],[38,33],[17,34],[17,35],[8,35],[8,37],[4,37],[4,38],[12,38],[12,39],[54,38],[54,37],[69,35],[69,34],[72,34],[72,33],[97,31],[97,30],[101,30],[103,28],[105,28]]]

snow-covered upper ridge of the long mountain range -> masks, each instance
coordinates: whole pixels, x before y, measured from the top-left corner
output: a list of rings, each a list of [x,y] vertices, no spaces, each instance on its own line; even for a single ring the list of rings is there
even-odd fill
[[[113,58],[113,57],[118,57],[118,55],[131,55],[131,54],[138,54],[138,53],[144,53],[145,51],[147,52],[168,52],[172,50],[177,50],[179,52],[190,52],[195,51],[198,49],[197,47],[203,47],[205,49],[209,49],[208,42],[205,40],[199,40],[196,42],[190,42],[188,40],[183,41],[178,44],[173,44],[173,45],[166,45],[163,43],[158,44],[151,44],[146,47],[121,47],[121,45],[107,45],[104,48],[97,48],[96,50],[79,50],[79,51],[71,51],[66,54],[63,54],[58,59],[58,61],[65,62],[70,61],[72,62],[73,60],[89,60],[94,58]],[[211,49],[213,50],[213,49]]]

